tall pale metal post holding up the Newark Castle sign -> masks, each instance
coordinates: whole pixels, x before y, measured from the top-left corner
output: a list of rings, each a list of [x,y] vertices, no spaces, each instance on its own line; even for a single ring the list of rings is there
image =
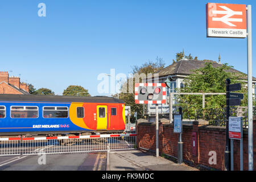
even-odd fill
[[[247,5],[247,87],[248,87],[248,169],[253,171],[253,80],[251,45],[251,5]]]

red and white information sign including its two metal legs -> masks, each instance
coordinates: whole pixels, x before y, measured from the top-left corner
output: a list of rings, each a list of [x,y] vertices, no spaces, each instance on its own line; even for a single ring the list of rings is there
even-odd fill
[[[240,140],[240,170],[243,171],[243,119],[242,117],[229,117],[229,139],[231,147],[231,171],[234,171],[233,140]]]

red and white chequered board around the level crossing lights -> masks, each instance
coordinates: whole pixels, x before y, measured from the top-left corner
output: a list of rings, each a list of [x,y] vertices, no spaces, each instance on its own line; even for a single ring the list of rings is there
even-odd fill
[[[139,99],[139,87],[156,87],[155,90],[158,91],[161,98],[160,100],[147,100],[144,98],[143,100]],[[159,88],[158,88],[159,87]],[[162,90],[161,90],[161,89]],[[153,93],[150,93],[153,95]],[[135,104],[165,104],[166,103],[166,84],[164,83],[135,83]],[[153,97],[154,98],[154,97]]]

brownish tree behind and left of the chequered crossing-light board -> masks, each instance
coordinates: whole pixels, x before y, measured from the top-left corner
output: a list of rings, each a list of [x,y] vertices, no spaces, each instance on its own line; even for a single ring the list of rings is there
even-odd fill
[[[134,85],[135,85],[135,76],[137,74],[144,73],[157,73],[160,70],[164,68],[163,59],[156,57],[156,61],[148,61],[141,66],[133,66],[132,73],[134,74],[133,77],[127,78],[127,81],[122,84],[121,93],[119,93],[119,99],[123,100],[125,102],[125,105],[131,106],[131,115],[134,115],[134,112],[137,112],[137,118],[143,117],[143,105],[142,104],[135,104],[135,98],[134,98],[134,92],[133,93],[127,93],[127,85],[128,87],[132,87],[131,90],[134,91]],[[139,78],[139,81],[142,81],[142,78]],[[129,84],[128,84],[129,83]],[[130,85],[130,83],[132,83]],[[125,88],[125,89],[124,89]],[[131,122],[134,122],[135,118],[131,117]]]

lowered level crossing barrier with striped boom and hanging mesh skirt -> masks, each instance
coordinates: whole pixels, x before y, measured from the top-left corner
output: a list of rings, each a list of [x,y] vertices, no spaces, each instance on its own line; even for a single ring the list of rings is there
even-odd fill
[[[0,138],[0,156],[132,150],[137,134]]]

